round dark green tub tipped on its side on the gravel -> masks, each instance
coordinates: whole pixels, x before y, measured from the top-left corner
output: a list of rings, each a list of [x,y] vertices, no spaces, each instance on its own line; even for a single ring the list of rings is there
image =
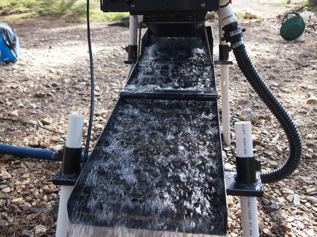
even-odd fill
[[[295,40],[305,31],[305,22],[296,12],[284,16],[280,34],[285,40]]]

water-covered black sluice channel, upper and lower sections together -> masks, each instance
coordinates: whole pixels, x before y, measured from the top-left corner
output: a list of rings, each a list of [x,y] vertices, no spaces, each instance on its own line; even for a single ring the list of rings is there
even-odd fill
[[[126,96],[69,197],[68,236],[225,236],[217,96],[195,97],[216,91],[206,40],[144,37]],[[153,91],[179,99],[140,98]]]

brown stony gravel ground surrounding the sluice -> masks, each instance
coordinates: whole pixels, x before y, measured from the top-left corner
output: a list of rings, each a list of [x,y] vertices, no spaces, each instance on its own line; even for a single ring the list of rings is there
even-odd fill
[[[261,236],[316,236],[317,17],[316,13],[299,10],[310,16],[305,41],[285,41],[279,28],[286,11],[290,9],[275,9],[266,20],[239,19],[240,25],[247,29],[243,40],[250,58],[292,116],[303,143],[303,159],[292,176],[264,184],[264,197],[257,199],[259,228]],[[79,113],[85,115],[84,132],[87,133],[90,76],[86,25],[70,23],[63,17],[9,24],[17,30],[25,52],[17,62],[0,65],[0,119],[26,121],[65,133],[68,114]],[[209,20],[208,24],[213,26],[214,54],[217,55],[217,19]],[[121,47],[128,42],[128,29],[92,23],[91,37],[95,67],[90,144],[93,148],[125,84],[127,68],[123,59],[126,53]],[[239,121],[242,111],[251,109],[257,119],[253,126],[255,154],[262,161],[262,171],[274,169],[288,156],[288,141],[233,61],[230,66],[231,121]],[[220,78],[218,68],[216,76]],[[2,144],[43,149],[60,149],[66,138],[65,134],[9,120],[0,120],[0,132]],[[233,137],[232,146],[223,146],[227,167],[235,166],[234,145]],[[0,235],[55,235],[60,186],[52,184],[51,179],[59,165],[55,161],[2,154]],[[228,206],[228,236],[242,236],[239,197],[228,196]]]

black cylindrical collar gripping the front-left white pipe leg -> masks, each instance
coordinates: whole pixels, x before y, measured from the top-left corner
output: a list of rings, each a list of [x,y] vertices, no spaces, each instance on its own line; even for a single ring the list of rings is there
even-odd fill
[[[81,151],[82,151],[81,147],[70,148],[70,147],[64,146],[63,160],[61,164],[61,173],[63,174],[80,173]]]

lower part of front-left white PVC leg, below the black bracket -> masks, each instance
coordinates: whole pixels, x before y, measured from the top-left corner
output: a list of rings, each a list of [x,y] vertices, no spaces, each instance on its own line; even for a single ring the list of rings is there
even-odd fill
[[[67,201],[73,186],[61,185],[60,203],[58,205],[58,218],[56,226],[56,237],[65,237],[68,227]]]

